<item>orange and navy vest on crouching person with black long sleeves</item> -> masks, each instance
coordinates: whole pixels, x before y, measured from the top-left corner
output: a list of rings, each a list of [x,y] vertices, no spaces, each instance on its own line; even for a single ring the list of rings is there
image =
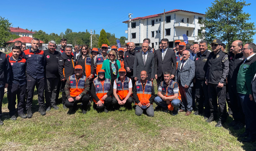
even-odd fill
[[[110,91],[110,85],[111,85],[110,79],[105,79],[103,85],[98,79],[96,79],[93,81],[93,84],[95,86],[96,95],[100,100],[104,95],[106,95]],[[97,101],[95,99],[93,99],[93,102],[97,104]],[[104,100],[101,100],[101,102],[104,103]]]

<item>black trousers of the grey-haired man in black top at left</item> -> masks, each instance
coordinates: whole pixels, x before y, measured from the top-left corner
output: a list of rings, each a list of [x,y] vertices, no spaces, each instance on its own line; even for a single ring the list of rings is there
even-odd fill
[[[57,88],[59,78],[45,78],[45,103],[46,105],[56,104]],[[59,96],[59,95],[58,95]]]

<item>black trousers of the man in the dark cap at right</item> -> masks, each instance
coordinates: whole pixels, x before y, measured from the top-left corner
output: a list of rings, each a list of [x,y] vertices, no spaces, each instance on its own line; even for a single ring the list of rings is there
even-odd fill
[[[219,117],[221,121],[226,121],[227,105],[226,105],[226,85],[222,88],[218,84],[208,83],[208,96],[211,115],[217,117],[217,107],[219,105]],[[218,101],[217,101],[218,97]]]

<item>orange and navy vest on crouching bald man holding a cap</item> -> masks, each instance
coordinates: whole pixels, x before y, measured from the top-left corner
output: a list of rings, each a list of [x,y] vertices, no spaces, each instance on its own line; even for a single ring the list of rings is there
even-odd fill
[[[143,89],[141,80],[136,81],[135,84],[136,84],[137,96],[139,100],[141,101],[142,98],[146,98],[147,100],[149,100],[152,93],[153,82],[147,80],[145,83],[144,89]],[[135,105],[137,105],[136,102],[135,102]]]

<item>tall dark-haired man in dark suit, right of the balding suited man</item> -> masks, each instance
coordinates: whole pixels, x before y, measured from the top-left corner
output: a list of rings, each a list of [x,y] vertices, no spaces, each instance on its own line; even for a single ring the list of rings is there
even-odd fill
[[[164,73],[170,72],[171,79],[174,78],[176,73],[176,56],[175,51],[172,49],[168,49],[169,40],[162,39],[161,40],[161,47],[155,53],[155,79],[157,82],[157,87],[159,84],[164,81]]]

